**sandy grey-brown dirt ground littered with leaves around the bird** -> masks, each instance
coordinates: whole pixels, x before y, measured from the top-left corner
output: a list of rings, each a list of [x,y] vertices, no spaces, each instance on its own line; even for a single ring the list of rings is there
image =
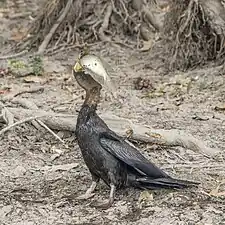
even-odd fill
[[[26,25],[26,18],[20,23],[6,18],[7,1],[0,4],[4,7],[0,13],[2,55],[4,42],[18,31],[18,25]],[[121,190],[111,208],[99,210],[91,203],[108,197],[109,190],[103,183],[93,199],[76,200],[90,185],[90,174],[74,135],[58,133],[65,147],[45,129],[22,124],[0,139],[0,224],[225,224],[225,73],[218,72],[212,64],[186,73],[168,73],[160,47],[149,54],[98,44],[92,51],[119,68],[113,77],[119,97],[110,100],[103,95],[106,97],[99,113],[109,112],[154,128],[184,130],[221,152],[207,157],[179,147],[137,143],[140,151],[167,173],[198,181],[199,187],[179,191]],[[71,76],[71,66],[78,53],[73,50],[45,57],[42,76],[0,74],[0,98],[6,94],[2,90],[14,93],[41,86],[42,92],[20,97],[46,111],[77,113],[84,93]],[[1,60],[0,69],[8,63]],[[134,81],[139,76],[151,85],[136,90]],[[20,107],[10,101],[4,104]]]

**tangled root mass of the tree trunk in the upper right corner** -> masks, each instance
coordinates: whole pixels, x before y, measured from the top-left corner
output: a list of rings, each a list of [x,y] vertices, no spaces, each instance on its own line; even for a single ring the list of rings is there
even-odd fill
[[[225,56],[225,9],[220,0],[174,0],[165,19],[170,69],[186,70]]]

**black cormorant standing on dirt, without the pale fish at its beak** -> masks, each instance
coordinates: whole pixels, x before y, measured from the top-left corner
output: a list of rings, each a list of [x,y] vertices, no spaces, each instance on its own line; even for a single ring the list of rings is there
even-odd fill
[[[96,113],[102,86],[84,72],[79,61],[73,68],[73,74],[78,84],[86,91],[85,101],[77,118],[75,134],[83,159],[92,176],[91,186],[78,199],[92,197],[100,179],[110,187],[109,199],[98,205],[102,208],[112,205],[116,189],[119,188],[176,189],[197,184],[170,177],[124,138],[110,130]]]

